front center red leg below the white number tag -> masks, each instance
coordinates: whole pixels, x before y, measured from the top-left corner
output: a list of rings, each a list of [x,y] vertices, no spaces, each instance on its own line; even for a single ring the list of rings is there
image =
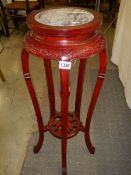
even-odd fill
[[[61,79],[61,129],[62,129],[62,175],[67,175],[67,122],[68,122],[68,100],[69,100],[69,70],[60,69]]]

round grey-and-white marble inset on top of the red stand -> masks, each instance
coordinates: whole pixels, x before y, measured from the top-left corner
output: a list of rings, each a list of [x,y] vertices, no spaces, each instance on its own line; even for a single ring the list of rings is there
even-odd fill
[[[93,19],[91,12],[79,8],[48,9],[35,15],[37,22],[50,26],[77,26]]]

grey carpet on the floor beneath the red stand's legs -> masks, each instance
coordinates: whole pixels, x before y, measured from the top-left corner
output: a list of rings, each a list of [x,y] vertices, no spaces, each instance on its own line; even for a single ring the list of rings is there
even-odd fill
[[[96,70],[87,69],[82,100],[81,118],[85,121],[87,104],[96,79]],[[72,70],[70,110],[74,106],[76,69]],[[59,79],[55,74],[56,86]],[[57,89],[59,89],[57,87]],[[57,92],[58,93],[58,92]],[[57,103],[59,103],[57,95]],[[58,106],[59,108],[59,106]],[[47,121],[48,107],[43,119]],[[45,120],[46,118],[46,120]],[[96,147],[89,154],[83,133],[68,140],[68,175],[130,175],[131,174],[131,110],[128,109],[117,70],[108,70],[98,99],[92,125],[91,138]],[[30,138],[21,175],[61,175],[60,140],[50,133],[39,154],[33,154],[37,133]]]

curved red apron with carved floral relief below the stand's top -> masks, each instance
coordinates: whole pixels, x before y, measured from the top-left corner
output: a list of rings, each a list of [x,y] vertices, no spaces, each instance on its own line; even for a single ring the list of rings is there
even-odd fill
[[[101,34],[97,34],[87,43],[73,44],[70,46],[54,45],[51,47],[46,43],[41,44],[40,41],[36,40],[36,38],[28,32],[24,39],[24,47],[29,53],[38,57],[59,61],[64,56],[67,58],[66,60],[71,61],[73,59],[83,59],[96,55],[105,47],[105,39]]]

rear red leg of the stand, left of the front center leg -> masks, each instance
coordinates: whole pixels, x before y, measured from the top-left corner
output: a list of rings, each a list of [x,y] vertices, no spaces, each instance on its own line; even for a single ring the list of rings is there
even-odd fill
[[[54,95],[54,84],[52,77],[51,61],[44,60],[46,80],[48,86],[48,96],[50,105],[50,117],[55,115],[55,95]]]

